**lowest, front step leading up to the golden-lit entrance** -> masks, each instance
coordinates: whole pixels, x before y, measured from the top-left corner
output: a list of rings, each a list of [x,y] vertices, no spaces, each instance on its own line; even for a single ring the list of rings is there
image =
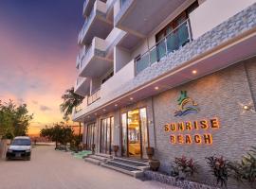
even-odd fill
[[[133,176],[135,178],[142,178],[144,176],[144,173],[142,170],[139,170],[137,168],[133,168],[130,166],[122,165],[119,163],[115,163],[112,161],[108,161],[106,163],[101,163],[101,166],[114,169],[116,171],[119,171],[121,173]]]

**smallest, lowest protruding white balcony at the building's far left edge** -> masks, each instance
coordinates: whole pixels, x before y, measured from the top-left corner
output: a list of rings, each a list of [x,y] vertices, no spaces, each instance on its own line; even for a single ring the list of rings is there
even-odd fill
[[[90,92],[90,79],[86,77],[78,77],[74,88],[75,94],[85,96]]]

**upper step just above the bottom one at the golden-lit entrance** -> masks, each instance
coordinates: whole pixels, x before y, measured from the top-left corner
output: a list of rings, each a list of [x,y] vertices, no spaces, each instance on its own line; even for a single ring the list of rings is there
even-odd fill
[[[131,167],[131,168],[135,168],[135,169],[141,170],[141,171],[145,171],[145,170],[149,169],[149,165],[148,164],[140,163],[140,162],[135,162],[135,161],[131,162],[131,161],[127,161],[126,159],[114,158],[113,160],[109,160],[108,162],[116,163],[116,164],[119,164],[119,165]]]

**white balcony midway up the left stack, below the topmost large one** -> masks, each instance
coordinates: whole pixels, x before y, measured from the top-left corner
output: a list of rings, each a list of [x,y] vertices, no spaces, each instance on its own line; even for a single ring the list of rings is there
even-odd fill
[[[113,67],[113,60],[106,57],[108,43],[94,38],[92,44],[83,51],[80,77],[101,77]]]

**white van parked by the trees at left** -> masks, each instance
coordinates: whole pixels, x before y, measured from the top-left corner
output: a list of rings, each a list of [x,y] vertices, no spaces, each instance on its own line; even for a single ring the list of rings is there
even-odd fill
[[[6,158],[30,160],[31,157],[31,140],[27,136],[17,136],[11,142]]]

